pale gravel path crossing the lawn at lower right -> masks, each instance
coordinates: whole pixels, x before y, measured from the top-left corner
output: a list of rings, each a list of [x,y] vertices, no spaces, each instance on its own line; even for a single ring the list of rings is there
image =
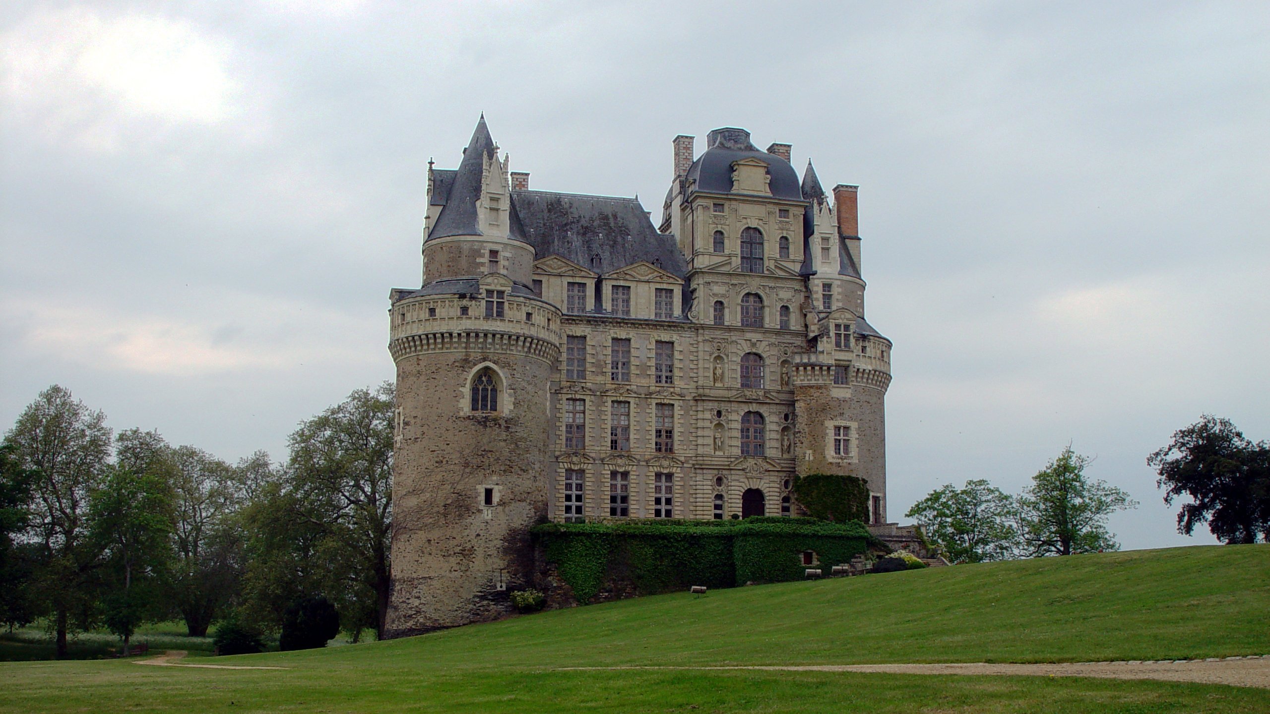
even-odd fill
[[[570,667],[573,670],[773,670],[785,672],[889,672],[903,675],[1008,675],[1166,680],[1270,689],[1270,656],[1162,662],[1078,662],[1055,664],[806,664],[748,667]]]

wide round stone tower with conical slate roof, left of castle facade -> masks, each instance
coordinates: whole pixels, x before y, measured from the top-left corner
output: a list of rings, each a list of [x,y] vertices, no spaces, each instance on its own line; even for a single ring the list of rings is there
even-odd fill
[[[392,291],[398,434],[390,637],[490,620],[533,569],[547,513],[560,311],[481,118],[456,170],[429,168],[420,290]]]

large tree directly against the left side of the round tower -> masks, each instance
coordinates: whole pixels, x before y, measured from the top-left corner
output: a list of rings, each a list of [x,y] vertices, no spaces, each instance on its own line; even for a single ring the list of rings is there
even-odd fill
[[[343,583],[328,589],[347,623],[382,637],[387,615],[392,525],[392,385],[358,389],[348,399],[302,422],[291,434],[288,485],[298,516],[321,530],[325,558],[349,565]],[[363,595],[364,593],[364,595]]]

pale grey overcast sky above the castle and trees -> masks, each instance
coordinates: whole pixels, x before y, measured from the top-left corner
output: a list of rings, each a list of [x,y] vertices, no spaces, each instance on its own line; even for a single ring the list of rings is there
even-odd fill
[[[485,112],[533,188],[657,216],[720,126],[860,184],[893,520],[1072,442],[1142,502],[1125,548],[1213,542],[1146,456],[1205,412],[1270,437],[1265,1],[9,1],[0,62],[5,428],[61,384],[284,459],[392,377],[428,159]]]

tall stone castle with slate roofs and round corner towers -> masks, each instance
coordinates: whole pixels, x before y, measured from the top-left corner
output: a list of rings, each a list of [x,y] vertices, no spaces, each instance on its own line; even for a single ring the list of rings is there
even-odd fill
[[[457,169],[429,163],[423,286],[391,292],[390,634],[507,612],[545,520],[789,516],[796,474],[837,473],[885,523],[857,187],[740,128],[673,159],[659,225],[530,189],[484,117]]]

